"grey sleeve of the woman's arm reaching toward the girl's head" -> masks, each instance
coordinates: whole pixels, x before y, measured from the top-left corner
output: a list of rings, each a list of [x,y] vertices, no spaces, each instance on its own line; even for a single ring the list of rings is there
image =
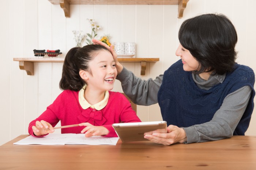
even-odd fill
[[[133,103],[143,106],[158,103],[157,94],[163,81],[163,75],[157,76],[155,80],[151,78],[142,80],[123,68],[116,79],[121,82],[124,93]]]

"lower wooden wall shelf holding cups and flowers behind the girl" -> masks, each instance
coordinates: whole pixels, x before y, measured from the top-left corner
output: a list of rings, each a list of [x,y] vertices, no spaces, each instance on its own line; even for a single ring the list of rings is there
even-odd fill
[[[20,70],[26,70],[27,75],[34,75],[34,63],[63,63],[64,58],[14,58],[19,62]],[[140,75],[145,75],[147,62],[158,62],[159,58],[117,58],[122,63],[140,63]]]

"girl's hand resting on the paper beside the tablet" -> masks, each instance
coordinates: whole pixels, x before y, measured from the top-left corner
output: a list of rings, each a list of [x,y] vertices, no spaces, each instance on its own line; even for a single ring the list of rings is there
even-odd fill
[[[85,137],[102,136],[109,134],[109,130],[104,126],[93,126],[90,123],[80,123],[79,126],[86,126],[81,133],[85,132]]]

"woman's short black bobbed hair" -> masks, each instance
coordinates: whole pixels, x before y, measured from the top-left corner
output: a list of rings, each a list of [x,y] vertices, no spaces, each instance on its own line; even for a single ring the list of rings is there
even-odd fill
[[[199,62],[202,72],[232,72],[237,52],[237,33],[231,21],[222,14],[204,14],[185,20],[178,39]]]

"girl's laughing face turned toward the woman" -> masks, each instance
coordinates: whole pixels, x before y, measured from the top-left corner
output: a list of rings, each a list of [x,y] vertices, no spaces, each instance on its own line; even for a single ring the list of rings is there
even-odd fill
[[[113,89],[117,70],[113,56],[109,51],[99,51],[89,62],[89,69],[86,88],[102,92]]]

